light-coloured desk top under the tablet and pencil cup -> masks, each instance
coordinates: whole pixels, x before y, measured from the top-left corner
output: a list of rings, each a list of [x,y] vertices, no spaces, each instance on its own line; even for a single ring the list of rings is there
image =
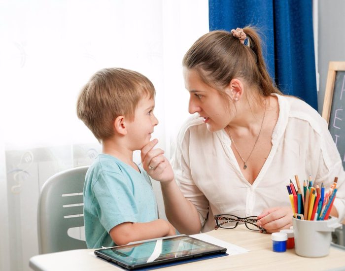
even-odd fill
[[[207,233],[212,237],[250,250],[248,253],[175,265],[162,270],[345,270],[345,250],[330,248],[330,254],[321,258],[304,258],[294,249],[283,253],[272,251],[271,235],[261,234],[239,225],[235,229],[218,229]],[[78,249],[37,255],[30,259],[35,271],[114,271],[112,264],[98,259],[94,249]]]

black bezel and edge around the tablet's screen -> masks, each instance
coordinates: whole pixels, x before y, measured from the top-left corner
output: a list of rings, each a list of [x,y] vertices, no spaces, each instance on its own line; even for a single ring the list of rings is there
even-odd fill
[[[179,237],[188,237],[188,238],[197,240],[199,242],[206,243],[208,245],[212,245],[214,247],[214,250],[213,251],[208,251],[208,252],[196,253],[196,254],[192,254],[192,255],[179,256],[178,258],[163,259],[163,260],[159,260],[159,261],[155,261],[155,262],[143,263],[143,264],[134,264],[134,265],[128,265],[125,262],[119,261],[119,259],[109,257],[109,255],[102,253],[104,250],[110,249],[110,248],[114,248],[114,247],[97,249],[97,250],[95,250],[95,254],[98,257],[100,257],[102,259],[105,259],[108,262],[114,263],[114,264],[116,264],[116,265],[118,265],[120,267],[126,268],[128,270],[135,270],[135,269],[139,269],[139,268],[157,266],[157,265],[173,263],[173,262],[179,262],[179,261],[188,260],[188,259],[192,259],[192,258],[200,258],[200,257],[203,257],[203,256],[223,254],[227,250],[225,247],[221,247],[221,246],[218,246],[218,245],[206,242],[204,240],[200,240],[198,238],[190,237],[190,236],[187,236],[187,235],[179,235],[179,236],[174,236],[174,237],[158,238],[158,239],[169,240],[169,239],[179,238]],[[153,241],[153,240],[146,240],[146,242],[149,242],[149,241]],[[145,241],[138,242],[138,245],[143,243],[143,242],[145,242]],[[121,247],[124,247],[124,246],[127,246],[127,245],[116,246],[116,248],[121,248]]]

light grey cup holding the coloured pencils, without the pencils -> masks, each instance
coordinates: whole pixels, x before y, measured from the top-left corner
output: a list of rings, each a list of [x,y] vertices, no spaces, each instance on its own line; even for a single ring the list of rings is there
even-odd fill
[[[300,220],[292,218],[295,236],[295,251],[303,257],[323,257],[328,255],[332,232],[342,226],[337,218],[328,220]]]

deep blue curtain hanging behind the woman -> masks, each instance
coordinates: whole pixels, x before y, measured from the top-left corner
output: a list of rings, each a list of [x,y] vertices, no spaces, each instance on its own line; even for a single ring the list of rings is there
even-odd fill
[[[317,110],[311,0],[208,0],[208,8],[210,31],[258,28],[279,90]]]

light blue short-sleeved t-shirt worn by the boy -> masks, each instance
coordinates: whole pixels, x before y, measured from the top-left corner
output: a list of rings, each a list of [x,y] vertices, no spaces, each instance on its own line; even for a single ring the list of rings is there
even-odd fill
[[[147,172],[119,159],[99,154],[86,173],[84,226],[88,248],[116,245],[109,231],[123,222],[158,218],[157,203]]]

